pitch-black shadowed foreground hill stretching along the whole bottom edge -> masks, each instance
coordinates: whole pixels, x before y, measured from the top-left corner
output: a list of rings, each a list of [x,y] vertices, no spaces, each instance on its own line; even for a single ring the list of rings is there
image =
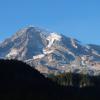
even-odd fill
[[[99,87],[61,87],[23,62],[0,60],[0,100],[98,100],[99,92]]]

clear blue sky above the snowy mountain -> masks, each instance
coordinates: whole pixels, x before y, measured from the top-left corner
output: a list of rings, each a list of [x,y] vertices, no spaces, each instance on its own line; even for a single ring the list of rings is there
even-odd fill
[[[0,41],[28,25],[100,45],[100,0],[0,0]]]

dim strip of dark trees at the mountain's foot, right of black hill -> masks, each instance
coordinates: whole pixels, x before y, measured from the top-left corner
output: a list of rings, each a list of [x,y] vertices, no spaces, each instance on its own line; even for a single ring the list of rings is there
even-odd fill
[[[58,75],[50,74],[48,77],[61,86],[72,87],[100,87],[100,76],[88,74],[73,74],[71,72]]]

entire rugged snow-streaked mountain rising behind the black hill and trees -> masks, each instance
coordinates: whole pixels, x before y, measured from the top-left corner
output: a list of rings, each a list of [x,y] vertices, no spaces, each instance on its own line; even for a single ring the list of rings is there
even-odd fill
[[[39,27],[25,27],[0,44],[0,58],[26,62],[43,74],[100,74],[100,46]],[[84,71],[85,70],[85,71]]]

